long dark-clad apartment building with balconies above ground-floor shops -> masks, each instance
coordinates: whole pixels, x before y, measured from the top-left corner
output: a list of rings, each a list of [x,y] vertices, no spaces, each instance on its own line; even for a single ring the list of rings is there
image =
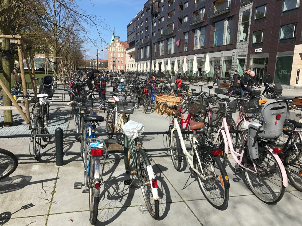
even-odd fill
[[[235,70],[242,75],[246,67],[252,67],[261,83],[267,71],[275,72],[279,58],[282,63],[287,61],[286,65],[290,65],[292,58],[294,72],[279,68],[283,75],[275,77],[275,82],[282,80],[282,84],[284,77],[290,77],[284,84],[289,85],[296,82],[294,74],[302,65],[299,6],[299,0],[165,0],[165,3],[149,0],[127,25],[130,46],[127,52],[129,56],[135,55],[135,61],[130,63],[149,61],[152,35],[152,59],[154,64],[159,62],[159,68],[163,62],[166,70],[170,59],[173,71],[177,59],[181,70],[186,58],[188,74],[205,76],[204,63],[209,55],[209,76],[217,70],[222,76]],[[195,74],[192,73],[194,56],[198,65]],[[297,85],[300,86],[300,81]]]

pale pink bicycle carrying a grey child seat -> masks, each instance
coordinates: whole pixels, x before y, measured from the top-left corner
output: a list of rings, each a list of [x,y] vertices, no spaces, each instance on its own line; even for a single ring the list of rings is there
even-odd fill
[[[236,99],[241,98],[235,97],[230,102],[236,101]],[[230,150],[236,162],[235,173],[241,173],[244,170],[249,187],[262,202],[268,204],[277,203],[283,197],[285,188],[288,186],[288,181],[284,165],[277,155],[278,149],[275,149],[273,142],[282,133],[284,121],[289,116],[287,102],[277,101],[265,105],[261,112],[263,121],[265,122],[263,126],[258,123],[246,122],[246,131],[244,133],[242,131],[235,131],[243,133],[240,150],[236,152],[226,121],[228,112],[227,102],[216,101],[219,104],[224,104],[225,107],[222,125],[218,130],[214,143],[219,137],[218,134],[221,133],[222,142],[225,147],[224,157],[226,158]],[[267,130],[274,132],[265,133]]]

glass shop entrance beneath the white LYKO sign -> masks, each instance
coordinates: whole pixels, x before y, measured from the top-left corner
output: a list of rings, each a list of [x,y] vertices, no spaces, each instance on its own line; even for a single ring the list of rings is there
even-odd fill
[[[262,84],[262,80],[267,73],[268,53],[253,54],[250,58],[250,68],[255,72],[254,79]],[[245,71],[244,71],[245,73]]]

